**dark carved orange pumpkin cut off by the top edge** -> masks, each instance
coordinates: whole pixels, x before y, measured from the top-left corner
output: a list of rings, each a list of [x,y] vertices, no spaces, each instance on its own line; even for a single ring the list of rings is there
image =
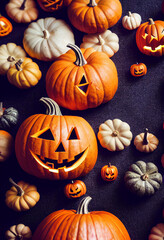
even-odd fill
[[[37,0],[37,2],[46,12],[54,12],[63,6],[63,0]]]

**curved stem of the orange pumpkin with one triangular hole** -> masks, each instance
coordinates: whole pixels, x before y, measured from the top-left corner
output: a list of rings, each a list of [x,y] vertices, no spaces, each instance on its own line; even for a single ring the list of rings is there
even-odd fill
[[[75,54],[76,54],[76,61],[74,62],[77,66],[84,66],[85,64],[87,64],[87,61],[85,60],[80,48],[74,44],[67,44],[67,47],[71,48]]]

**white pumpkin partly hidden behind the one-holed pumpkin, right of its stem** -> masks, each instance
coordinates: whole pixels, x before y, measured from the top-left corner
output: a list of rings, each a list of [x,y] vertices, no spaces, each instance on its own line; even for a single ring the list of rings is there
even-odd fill
[[[112,57],[119,50],[119,38],[117,34],[106,30],[101,34],[84,35],[80,48],[94,48],[98,52],[104,52]]]

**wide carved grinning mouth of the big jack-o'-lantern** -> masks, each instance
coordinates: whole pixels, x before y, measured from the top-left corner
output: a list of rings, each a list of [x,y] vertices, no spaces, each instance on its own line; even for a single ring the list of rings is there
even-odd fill
[[[77,168],[80,164],[86,159],[88,154],[88,148],[82,151],[81,153],[74,156],[74,160],[68,161],[68,159],[64,159],[62,163],[58,163],[55,159],[46,158],[40,155],[34,154],[30,151],[33,155],[34,159],[43,167],[47,168],[50,172],[59,172],[59,169],[64,169],[65,172],[71,171],[72,168]]]

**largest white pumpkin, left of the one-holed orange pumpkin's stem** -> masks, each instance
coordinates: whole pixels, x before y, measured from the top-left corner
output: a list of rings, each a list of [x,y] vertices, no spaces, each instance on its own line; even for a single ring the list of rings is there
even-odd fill
[[[32,22],[24,32],[23,45],[33,58],[51,61],[66,53],[74,34],[64,20],[48,17]]]

